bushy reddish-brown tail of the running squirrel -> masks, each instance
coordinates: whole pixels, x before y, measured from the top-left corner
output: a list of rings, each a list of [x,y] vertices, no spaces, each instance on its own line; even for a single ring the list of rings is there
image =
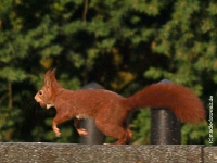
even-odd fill
[[[153,84],[127,98],[131,110],[137,108],[164,108],[174,111],[186,123],[205,120],[203,102],[189,88],[177,84]]]

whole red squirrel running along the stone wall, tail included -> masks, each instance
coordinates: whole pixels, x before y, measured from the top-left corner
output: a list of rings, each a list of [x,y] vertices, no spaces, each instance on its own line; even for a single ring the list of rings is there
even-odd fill
[[[54,106],[56,115],[52,129],[61,136],[58,124],[74,117],[74,126],[80,136],[88,135],[80,127],[79,121],[85,117],[94,118],[98,128],[105,135],[117,139],[115,145],[130,142],[132,133],[127,125],[130,111],[151,106],[166,108],[186,123],[199,123],[205,120],[202,101],[189,88],[177,84],[153,84],[143,90],[124,98],[105,89],[68,90],[61,87],[55,79],[55,70],[44,75],[44,85],[36,93],[35,100],[41,108]]]

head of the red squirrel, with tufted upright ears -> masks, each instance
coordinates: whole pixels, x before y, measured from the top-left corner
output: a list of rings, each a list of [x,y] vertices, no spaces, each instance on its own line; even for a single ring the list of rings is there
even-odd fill
[[[35,100],[41,108],[53,106],[53,99],[55,98],[55,90],[60,88],[60,84],[55,79],[55,70],[50,70],[44,75],[44,85],[35,96]]]

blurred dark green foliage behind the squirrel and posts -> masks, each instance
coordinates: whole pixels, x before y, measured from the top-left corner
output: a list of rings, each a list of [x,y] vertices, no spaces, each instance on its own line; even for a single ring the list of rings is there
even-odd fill
[[[56,67],[63,87],[97,82],[128,97],[167,78],[217,104],[215,0],[1,0],[0,141],[78,142],[73,122],[51,123],[34,96]],[[208,145],[208,122],[182,125],[182,143]],[[214,140],[217,114],[214,111]],[[130,121],[133,142],[150,143],[150,111]],[[214,142],[217,145],[217,142]]]

